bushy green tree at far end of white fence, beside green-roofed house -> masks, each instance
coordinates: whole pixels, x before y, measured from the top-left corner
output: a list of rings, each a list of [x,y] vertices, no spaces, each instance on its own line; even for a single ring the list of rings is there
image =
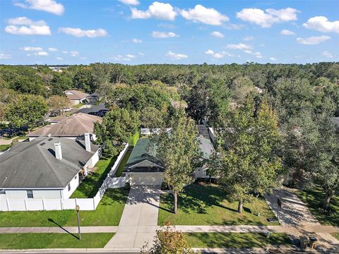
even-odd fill
[[[139,119],[136,111],[116,107],[104,116],[102,123],[94,123],[96,142],[105,145],[104,152],[107,154],[117,155],[138,127]]]

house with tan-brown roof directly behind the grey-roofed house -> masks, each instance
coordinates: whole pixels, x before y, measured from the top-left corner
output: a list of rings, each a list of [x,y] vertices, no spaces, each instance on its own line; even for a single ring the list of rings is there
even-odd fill
[[[102,123],[102,118],[90,114],[76,113],[54,124],[49,124],[28,133],[30,140],[40,135],[52,135],[59,138],[78,139],[83,133],[90,133],[91,139],[96,140],[93,133],[94,123]]]

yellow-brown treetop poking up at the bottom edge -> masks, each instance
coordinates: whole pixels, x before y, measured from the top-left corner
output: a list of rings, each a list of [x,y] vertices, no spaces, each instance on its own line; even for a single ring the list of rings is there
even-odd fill
[[[182,232],[177,231],[174,226],[167,222],[166,226],[157,230],[153,246],[149,248],[148,243],[143,246],[141,254],[194,254]]]

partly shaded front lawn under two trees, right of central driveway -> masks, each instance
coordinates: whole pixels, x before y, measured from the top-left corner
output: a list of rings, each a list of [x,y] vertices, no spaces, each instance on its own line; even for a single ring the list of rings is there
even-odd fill
[[[222,188],[215,184],[193,183],[186,186],[178,197],[178,212],[173,214],[173,195],[165,193],[160,198],[158,224],[172,225],[277,225],[267,218],[274,217],[263,198],[244,203],[244,212],[237,212],[237,202],[227,200]],[[261,216],[257,214],[260,212]]]

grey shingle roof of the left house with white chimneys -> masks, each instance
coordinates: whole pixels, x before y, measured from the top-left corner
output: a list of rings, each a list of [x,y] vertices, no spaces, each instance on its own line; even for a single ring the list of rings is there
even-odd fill
[[[57,142],[62,159],[55,157]],[[90,147],[87,152],[83,140],[50,137],[16,143],[0,155],[0,188],[64,188],[99,149]]]

